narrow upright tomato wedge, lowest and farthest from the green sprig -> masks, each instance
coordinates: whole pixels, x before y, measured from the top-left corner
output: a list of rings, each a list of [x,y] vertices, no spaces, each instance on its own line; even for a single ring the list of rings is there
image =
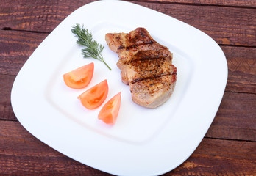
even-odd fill
[[[115,124],[121,103],[121,92],[111,98],[99,111],[98,119],[107,124]]]

